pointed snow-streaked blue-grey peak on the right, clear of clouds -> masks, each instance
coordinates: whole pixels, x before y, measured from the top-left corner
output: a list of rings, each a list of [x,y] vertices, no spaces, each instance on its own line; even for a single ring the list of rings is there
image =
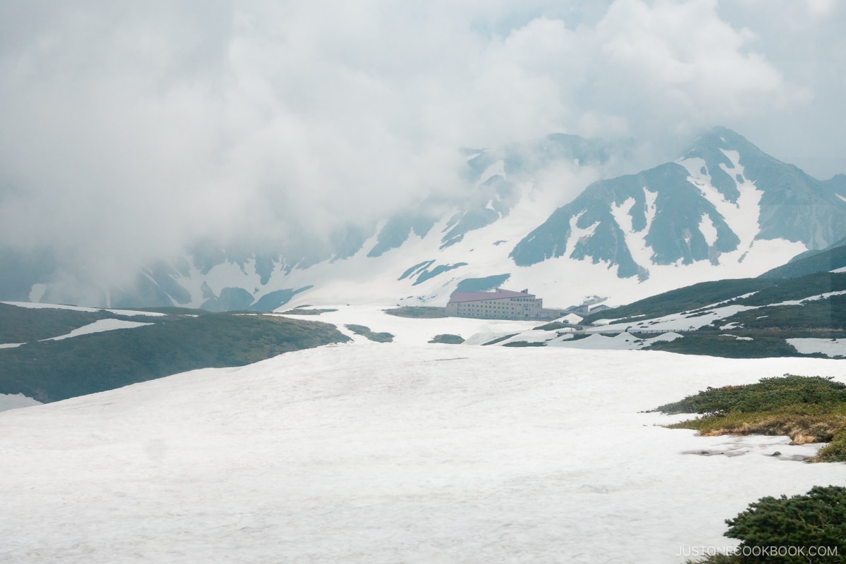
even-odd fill
[[[844,180],[811,178],[716,128],[676,162],[591,184],[511,256],[603,261],[645,280],[652,266],[739,263],[765,242],[821,249],[846,236]]]

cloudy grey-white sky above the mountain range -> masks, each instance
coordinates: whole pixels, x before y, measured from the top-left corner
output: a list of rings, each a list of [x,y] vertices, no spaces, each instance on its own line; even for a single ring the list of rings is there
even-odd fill
[[[646,167],[719,124],[829,178],[844,29],[836,0],[0,0],[0,238],[119,270],[321,233],[553,132]]]

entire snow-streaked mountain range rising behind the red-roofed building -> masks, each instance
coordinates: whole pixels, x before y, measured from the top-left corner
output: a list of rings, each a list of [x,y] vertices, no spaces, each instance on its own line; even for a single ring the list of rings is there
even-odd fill
[[[600,179],[629,149],[558,134],[467,150],[461,185],[377,225],[339,226],[322,244],[272,252],[199,244],[149,266],[134,284],[88,293],[89,304],[442,305],[459,287],[503,285],[528,287],[555,307],[591,296],[624,304],[695,282],[755,277],[846,237],[846,176],[816,180],[717,128],[676,162]],[[80,303],[45,270],[0,280],[0,290],[15,292],[0,298]]]

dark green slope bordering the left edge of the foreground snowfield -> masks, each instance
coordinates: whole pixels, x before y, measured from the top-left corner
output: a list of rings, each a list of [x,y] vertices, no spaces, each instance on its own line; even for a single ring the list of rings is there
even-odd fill
[[[0,393],[41,402],[186,370],[240,366],[349,340],[335,326],[269,315],[211,314],[0,349]]]

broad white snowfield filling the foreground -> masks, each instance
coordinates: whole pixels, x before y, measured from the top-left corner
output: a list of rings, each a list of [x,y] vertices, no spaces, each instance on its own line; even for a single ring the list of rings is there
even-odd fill
[[[530,327],[385,318],[317,319],[394,342],[0,413],[0,561],[669,564],[732,545],[724,519],[762,496],[846,485],[795,460],[819,445],[644,413],[785,372],[846,381],[843,361],[428,344]]]

